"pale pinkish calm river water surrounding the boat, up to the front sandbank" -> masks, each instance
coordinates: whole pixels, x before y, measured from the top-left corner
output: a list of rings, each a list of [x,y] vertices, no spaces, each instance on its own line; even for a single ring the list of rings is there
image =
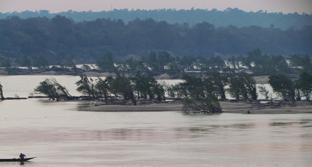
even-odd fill
[[[0,76],[25,97],[46,76]],[[69,88],[79,78],[56,76]],[[86,112],[94,102],[0,101],[0,166],[311,166],[312,114]]]

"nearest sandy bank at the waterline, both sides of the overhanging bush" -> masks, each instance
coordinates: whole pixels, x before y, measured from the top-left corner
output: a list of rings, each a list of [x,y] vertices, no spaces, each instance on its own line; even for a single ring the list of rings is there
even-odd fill
[[[274,103],[274,102],[273,102]],[[295,106],[288,104],[272,103],[250,103],[250,102],[228,102],[221,101],[222,110],[225,113],[247,114],[312,114],[312,104],[307,101],[298,101]],[[279,106],[280,105],[280,106]],[[174,103],[154,103],[148,105],[98,105],[80,109],[80,111],[98,111],[98,112],[138,112],[138,111],[182,111],[181,101]]]

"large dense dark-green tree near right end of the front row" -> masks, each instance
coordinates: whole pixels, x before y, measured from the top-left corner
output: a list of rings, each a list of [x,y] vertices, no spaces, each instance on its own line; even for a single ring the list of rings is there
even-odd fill
[[[294,83],[291,79],[283,74],[269,76],[269,84],[274,92],[279,93],[284,100],[295,102]]]

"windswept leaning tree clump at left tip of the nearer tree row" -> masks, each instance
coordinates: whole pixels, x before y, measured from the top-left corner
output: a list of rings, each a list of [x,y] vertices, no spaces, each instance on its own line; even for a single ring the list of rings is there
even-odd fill
[[[50,99],[60,101],[71,96],[65,86],[61,86],[55,78],[46,78],[34,89],[37,94],[44,94]]]

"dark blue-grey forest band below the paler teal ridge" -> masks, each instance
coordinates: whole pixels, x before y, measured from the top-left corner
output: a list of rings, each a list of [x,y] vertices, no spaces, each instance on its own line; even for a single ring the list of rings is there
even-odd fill
[[[151,18],[128,24],[104,18],[76,23],[60,15],[51,19],[0,19],[0,56],[10,59],[43,56],[49,63],[56,63],[71,56],[90,62],[107,52],[114,56],[144,56],[151,50],[165,50],[179,57],[211,57],[215,53],[246,55],[254,48],[268,55],[311,55],[312,26],[289,30],[273,26],[216,28],[204,21],[190,27],[187,23],[168,24]]]

